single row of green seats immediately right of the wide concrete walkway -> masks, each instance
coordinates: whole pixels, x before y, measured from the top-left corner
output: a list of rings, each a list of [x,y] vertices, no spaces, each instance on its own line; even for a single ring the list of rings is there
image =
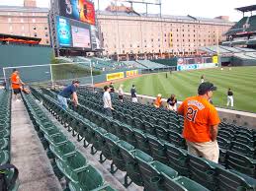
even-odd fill
[[[51,164],[55,175],[59,179],[64,175],[71,191],[114,190],[105,184],[101,173],[87,163],[87,159],[77,151],[75,145],[52,123],[33,96],[23,97],[43,148],[48,158],[52,159]],[[62,110],[62,114],[75,119],[75,116],[68,111]]]

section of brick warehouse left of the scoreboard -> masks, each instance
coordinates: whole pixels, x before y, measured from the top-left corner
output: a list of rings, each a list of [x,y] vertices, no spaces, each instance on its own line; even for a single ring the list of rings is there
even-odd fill
[[[50,44],[48,9],[37,7],[36,0],[25,0],[24,7],[0,6],[0,33],[42,38]]]

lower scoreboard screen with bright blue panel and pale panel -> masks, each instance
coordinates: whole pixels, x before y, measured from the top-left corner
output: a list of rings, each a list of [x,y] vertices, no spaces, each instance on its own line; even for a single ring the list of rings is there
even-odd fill
[[[57,16],[56,30],[60,47],[92,48],[90,25]]]

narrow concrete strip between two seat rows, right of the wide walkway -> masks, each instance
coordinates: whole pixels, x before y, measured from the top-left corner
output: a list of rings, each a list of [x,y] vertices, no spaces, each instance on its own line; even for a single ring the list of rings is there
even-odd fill
[[[113,188],[119,191],[143,191],[143,187],[139,187],[134,183],[131,183],[128,188],[123,184],[125,183],[126,172],[118,170],[115,174],[110,173],[111,160],[106,160],[104,163],[99,162],[100,152],[95,155],[91,155],[91,146],[88,148],[83,147],[83,141],[78,142],[76,137],[73,137],[71,132],[68,132],[63,126],[42,106],[43,110],[47,113],[48,117],[57,125],[61,131],[68,137],[70,141],[75,143],[77,149],[84,154],[90,164],[95,166],[104,176],[106,183],[110,184]]]

